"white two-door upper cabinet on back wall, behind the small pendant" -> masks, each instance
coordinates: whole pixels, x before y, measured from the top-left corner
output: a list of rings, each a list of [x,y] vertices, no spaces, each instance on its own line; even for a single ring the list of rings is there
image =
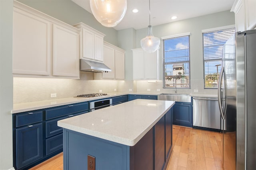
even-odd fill
[[[132,50],[133,80],[159,80],[159,50],[146,53],[143,49]]]

